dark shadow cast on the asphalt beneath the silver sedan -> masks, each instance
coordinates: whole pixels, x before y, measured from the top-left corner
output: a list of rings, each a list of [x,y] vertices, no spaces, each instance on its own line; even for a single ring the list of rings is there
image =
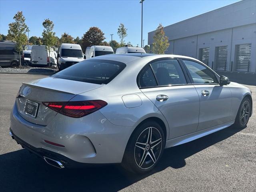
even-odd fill
[[[198,140],[166,149],[154,171],[143,176],[130,174],[117,165],[58,169],[25,149],[2,154],[0,191],[118,191],[167,167],[182,168],[189,156],[239,131],[230,126]]]

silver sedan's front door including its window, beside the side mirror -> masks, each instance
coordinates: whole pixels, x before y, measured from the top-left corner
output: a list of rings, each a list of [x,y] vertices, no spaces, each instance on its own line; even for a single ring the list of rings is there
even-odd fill
[[[182,60],[200,98],[198,131],[232,120],[232,95],[226,85],[220,86],[218,76],[203,64]]]

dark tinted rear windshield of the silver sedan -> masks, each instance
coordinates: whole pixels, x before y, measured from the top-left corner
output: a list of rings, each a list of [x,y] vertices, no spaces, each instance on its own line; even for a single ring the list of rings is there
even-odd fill
[[[108,84],[126,64],[110,60],[85,60],[62,70],[52,77],[94,84]]]

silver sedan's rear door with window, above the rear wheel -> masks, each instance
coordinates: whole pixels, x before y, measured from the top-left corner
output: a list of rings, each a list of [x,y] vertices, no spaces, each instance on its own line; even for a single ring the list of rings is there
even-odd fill
[[[166,118],[169,139],[195,132],[198,126],[199,98],[187,80],[177,59],[151,62],[140,74],[141,91]]]

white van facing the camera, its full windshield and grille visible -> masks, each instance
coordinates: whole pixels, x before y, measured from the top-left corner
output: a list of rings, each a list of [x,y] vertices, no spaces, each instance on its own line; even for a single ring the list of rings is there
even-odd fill
[[[62,43],[58,48],[57,62],[59,70],[63,70],[83,60],[83,52],[79,44]]]

